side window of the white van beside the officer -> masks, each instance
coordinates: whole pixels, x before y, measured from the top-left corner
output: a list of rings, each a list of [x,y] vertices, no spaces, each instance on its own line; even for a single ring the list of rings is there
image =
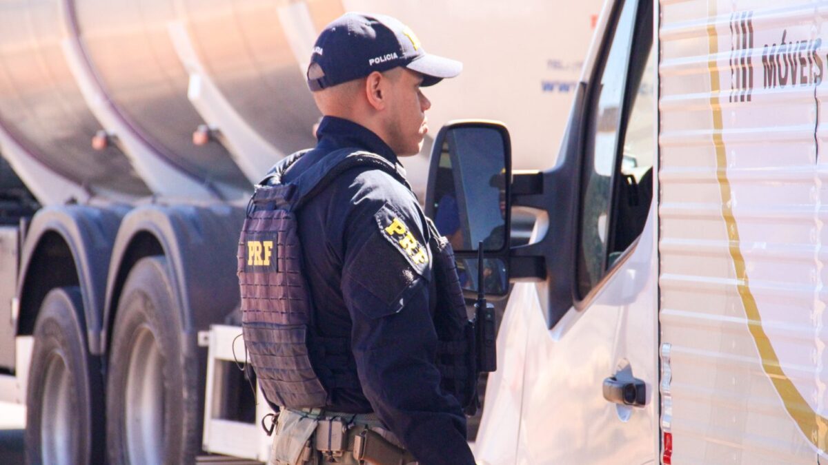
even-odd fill
[[[586,113],[576,266],[580,298],[641,233],[652,199],[650,2],[624,2],[607,44]]]

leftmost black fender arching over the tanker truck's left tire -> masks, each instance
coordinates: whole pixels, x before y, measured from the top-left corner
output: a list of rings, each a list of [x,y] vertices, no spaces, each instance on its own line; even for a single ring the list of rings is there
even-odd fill
[[[21,253],[17,334],[31,334],[49,290],[77,285],[89,350],[99,347],[109,258],[126,206],[46,207],[31,219]]]

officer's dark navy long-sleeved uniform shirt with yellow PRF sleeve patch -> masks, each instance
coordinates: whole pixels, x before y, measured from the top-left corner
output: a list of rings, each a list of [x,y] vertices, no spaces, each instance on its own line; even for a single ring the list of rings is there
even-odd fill
[[[392,149],[359,124],[324,117],[316,135],[318,145],[283,182],[346,147],[383,156],[403,172]],[[420,463],[474,463],[460,404],[440,390],[428,228],[411,189],[360,166],[308,200],[297,217],[316,329],[350,338],[350,368],[362,385],[331,390],[327,409],[376,412]]]

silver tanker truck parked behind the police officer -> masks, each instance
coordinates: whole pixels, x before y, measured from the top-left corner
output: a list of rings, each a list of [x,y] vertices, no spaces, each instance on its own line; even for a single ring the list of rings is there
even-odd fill
[[[305,69],[345,11],[465,62],[432,127],[513,124],[551,166],[597,1],[24,0],[0,5],[0,400],[32,463],[267,458],[235,250],[253,185],[312,146]],[[431,151],[405,161],[418,194]]]

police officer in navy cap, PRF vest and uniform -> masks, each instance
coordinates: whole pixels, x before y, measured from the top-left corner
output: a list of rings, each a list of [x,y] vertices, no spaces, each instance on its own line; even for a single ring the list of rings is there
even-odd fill
[[[257,186],[238,248],[245,343],[280,410],[271,463],[474,463],[453,253],[397,159],[428,131],[421,88],[461,69],[391,17],[348,13],[315,42],[319,142]]]

